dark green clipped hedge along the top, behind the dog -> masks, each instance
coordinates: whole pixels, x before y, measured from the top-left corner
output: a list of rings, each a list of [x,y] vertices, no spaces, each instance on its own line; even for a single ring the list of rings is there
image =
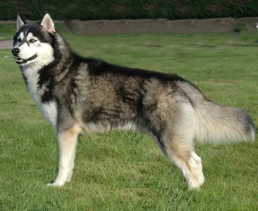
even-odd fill
[[[1,0],[0,20],[254,17],[257,0]]]

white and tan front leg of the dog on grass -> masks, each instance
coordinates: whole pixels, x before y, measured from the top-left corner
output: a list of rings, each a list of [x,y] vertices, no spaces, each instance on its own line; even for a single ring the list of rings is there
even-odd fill
[[[71,180],[79,133],[80,128],[78,126],[73,126],[68,130],[58,132],[58,175],[55,181],[48,185],[62,186],[65,184],[66,181]]]

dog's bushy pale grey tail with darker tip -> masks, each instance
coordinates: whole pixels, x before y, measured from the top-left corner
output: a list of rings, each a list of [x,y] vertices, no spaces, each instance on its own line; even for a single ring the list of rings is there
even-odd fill
[[[199,142],[234,143],[255,141],[255,125],[242,109],[203,99],[194,106]]]

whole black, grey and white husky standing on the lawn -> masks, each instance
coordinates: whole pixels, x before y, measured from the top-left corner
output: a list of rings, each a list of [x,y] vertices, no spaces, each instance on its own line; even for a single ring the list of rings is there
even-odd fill
[[[176,74],[77,55],[48,13],[28,24],[18,15],[13,46],[32,99],[57,134],[58,174],[49,185],[71,180],[80,133],[121,129],[148,134],[181,169],[190,189],[204,182],[195,139],[255,141],[254,122],[244,110],[218,105]]]

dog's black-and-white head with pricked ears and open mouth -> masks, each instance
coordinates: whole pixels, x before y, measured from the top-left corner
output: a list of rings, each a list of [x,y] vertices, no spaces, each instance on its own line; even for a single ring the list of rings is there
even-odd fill
[[[38,23],[27,24],[17,16],[17,31],[13,37],[12,54],[20,66],[44,66],[53,62],[55,25],[47,13]]]

